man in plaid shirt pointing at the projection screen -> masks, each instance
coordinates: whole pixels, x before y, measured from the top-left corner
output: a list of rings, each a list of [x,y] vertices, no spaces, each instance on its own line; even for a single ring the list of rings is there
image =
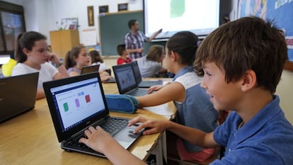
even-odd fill
[[[125,35],[125,45],[126,50],[130,53],[130,58],[134,61],[137,58],[144,56],[144,42],[151,42],[156,35],[162,32],[162,29],[156,31],[151,37],[146,37],[144,33],[139,31],[139,23],[137,20],[133,19],[128,21],[128,27],[130,28],[130,33]]]

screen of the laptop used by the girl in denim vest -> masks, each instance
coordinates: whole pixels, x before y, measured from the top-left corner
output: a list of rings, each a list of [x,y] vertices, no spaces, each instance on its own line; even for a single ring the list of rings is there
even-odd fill
[[[120,93],[137,88],[131,64],[113,66],[113,70]]]

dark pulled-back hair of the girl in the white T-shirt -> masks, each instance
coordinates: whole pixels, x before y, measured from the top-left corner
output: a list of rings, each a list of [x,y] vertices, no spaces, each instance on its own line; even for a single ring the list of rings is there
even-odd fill
[[[21,33],[18,35],[16,39],[16,46],[14,51],[14,58],[17,62],[25,62],[27,56],[23,52],[23,49],[26,48],[28,50],[33,50],[33,46],[35,45],[35,41],[38,40],[47,40],[45,35],[35,31],[29,31],[25,33]]]

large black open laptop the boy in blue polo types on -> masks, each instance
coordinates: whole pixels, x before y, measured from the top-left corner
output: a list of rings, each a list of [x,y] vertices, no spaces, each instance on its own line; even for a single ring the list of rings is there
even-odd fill
[[[95,72],[47,81],[43,87],[58,142],[67,152],[105,157],[79,143],[89,126],[100,125],[125,149],[142,133],[132,133],[137,125],[128,127],[130,119],[110,117],[100,76]]]

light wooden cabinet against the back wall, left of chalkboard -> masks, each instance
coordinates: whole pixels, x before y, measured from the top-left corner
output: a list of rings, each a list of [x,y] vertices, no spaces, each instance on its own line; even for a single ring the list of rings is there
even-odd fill
[[[50,38],[52,52],[64,58],[72,47],[79,45],[79,30],[50,31]]]

